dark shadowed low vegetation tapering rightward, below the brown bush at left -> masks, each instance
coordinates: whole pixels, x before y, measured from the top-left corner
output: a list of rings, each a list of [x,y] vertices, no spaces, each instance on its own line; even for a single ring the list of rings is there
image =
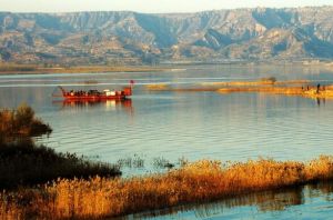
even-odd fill
[[[0,188],[46,183],[58,178],[117,177],[118,167],[92,162],[73,153],[57,153],[53,149],[29,141],[0,146]]]

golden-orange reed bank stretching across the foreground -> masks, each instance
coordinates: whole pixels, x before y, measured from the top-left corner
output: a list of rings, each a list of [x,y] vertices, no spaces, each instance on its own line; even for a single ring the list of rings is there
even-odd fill
[[[332,178],[333,158],[324,156],[307,163],[260,159],[221,164],[202,160],[164,174],[58,180],[38,191],[16,193],[11,199],[4,192],[0,210],[2,217],[29,213],[40,218],[102,218]]]

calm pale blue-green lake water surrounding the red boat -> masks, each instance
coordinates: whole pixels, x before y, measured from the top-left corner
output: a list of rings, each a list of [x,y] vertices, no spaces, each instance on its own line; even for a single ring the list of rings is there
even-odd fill
[[[39,142],[91,160],[121,163],[124,176],[163,171],[161,163],[176,164],[183,159],[245,161],[269,157],[304,161],[332,154],[333,100],[213,91],[149,91],[145,87],[167,83],[173,88],[193,88],[203,82],[271,76],[278,80],[309,79],[314,84],[333,82],[333,70],[291,66],[183,66],[172,71],[144,73],[13,74],[0,76],[0,108],[29,103],[38,117],[53,128],[51,136]],[[64,103],[51,97],[59,84],[69,90],[120,89],[131,79],[135,81],[134,96],[127,102]],[[313,191],[305,188],[301,192],[304,194],[306,190]],[[332,196],[317,198],[324,200],[325,197]],[[326,211],[329,204],[323,203],[322,209]],[[208,207],[215,204],[220,207],[219,202]],[[236,210],[246,214],[253,206],[258,207],[245,203],[226,212],[232,214]],[[195,206],[189,209],[200,210]],[[186,213],[175,212],[168,218],[191,219],[195,211],[190,211],[189,218]],[[285,217],[294,217],[293,211],[290,214]]]

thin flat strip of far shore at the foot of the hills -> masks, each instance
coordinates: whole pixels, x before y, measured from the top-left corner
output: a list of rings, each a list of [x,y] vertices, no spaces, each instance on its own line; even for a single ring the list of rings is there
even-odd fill
[[[0,62],[1,74],[40,74],[40,73],[98,73],[98,72],[160,72],[182,70],[186,66],[225,66],[225,67],[302,67],[302,68],[333,68],[332,61],[230,61],[230,62],[195,62],[195,61],[174,61],[159,63],[157,66],[149,64],[20,64],[11,62]]]

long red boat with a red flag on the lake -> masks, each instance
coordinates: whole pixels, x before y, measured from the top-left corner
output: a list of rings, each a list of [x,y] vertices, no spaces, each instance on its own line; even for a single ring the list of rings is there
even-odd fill
[[[91,101],[100,101],[100,100],[124,100],[128,97],[132,96],[132,89],[133,89],[133,81],[130,81],[129,87],[124,87],[122,90],[115,91],[115,90],[109,90],[105,89],[103,91],[99,90],[70,90],[67,91],[62,87],[59,86],[62,98],[65,100],[73,100],[73,101],[80,101],[80,100],[91,100]]]

